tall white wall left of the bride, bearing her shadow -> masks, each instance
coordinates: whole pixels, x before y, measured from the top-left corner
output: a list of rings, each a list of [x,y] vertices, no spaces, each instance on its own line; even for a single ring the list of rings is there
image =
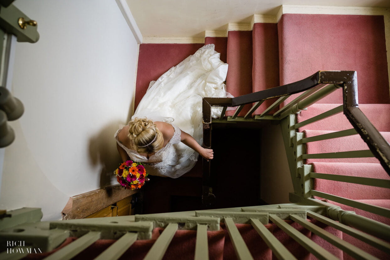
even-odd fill
[[[114,184],[113,134],[133,106],[138,44],[110,0],[17,0],[38,22],[37,43],[17,43],[0,209],[40,207],[61,219],[70,196]]]

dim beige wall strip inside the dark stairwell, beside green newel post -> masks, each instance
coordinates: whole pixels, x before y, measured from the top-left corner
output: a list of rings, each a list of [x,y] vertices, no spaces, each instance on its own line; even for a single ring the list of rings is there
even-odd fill
[[[261,199],[268,204],[289,203],[294,192],[280,125],[261,132]]]

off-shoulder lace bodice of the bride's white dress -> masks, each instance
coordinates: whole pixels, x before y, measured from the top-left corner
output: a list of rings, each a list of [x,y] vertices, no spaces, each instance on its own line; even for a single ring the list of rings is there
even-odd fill
[[[174,144],[180,143],[181,140],[181,130],[179,127],[175,126],[174,124],[171,124],[174,128],[174,134],[172,138],[168,141],[168,143],[149,156],[149,159],[146,156],[138,154],[137,151],[129,149],[128,147],[124,146],[119,140],[118,140],[118,133],[123,129],[124,126],[119,128],[117,132],[114,134],[115,140],[117,140],[117,143],[120,147],[123,148],[123,150],[126,151],[128,156],[131,160],[139,162],[139,163],[145,163],[145,168],[147,170],[147,173],[150,175],[158,175],[163,176],[165,171],[169,168],[170,158],[174,156]]]

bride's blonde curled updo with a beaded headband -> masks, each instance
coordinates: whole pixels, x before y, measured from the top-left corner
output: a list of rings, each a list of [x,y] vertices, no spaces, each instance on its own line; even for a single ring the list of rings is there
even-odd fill
[[[139,154],[151,154],[163,147],[163,134],[158,130],[152,120],[145,118],[135,118],[129,122],[128,137],[132,141],[133,150]],[[154,141],[153,141],[154,140]]]

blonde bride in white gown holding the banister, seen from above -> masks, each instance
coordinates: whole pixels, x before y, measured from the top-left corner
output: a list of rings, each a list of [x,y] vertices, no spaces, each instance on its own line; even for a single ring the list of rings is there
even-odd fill
[[[142,162],[150,175],[177,178],[191,170],[198,154],[213,159],[213,150],[201,146],[202,97],[230,96],[223,83],[227,67],[208,44],[152,81],[131,121],[114,135],[122,161]],[[212,108],[212,117],[221,111]]]

